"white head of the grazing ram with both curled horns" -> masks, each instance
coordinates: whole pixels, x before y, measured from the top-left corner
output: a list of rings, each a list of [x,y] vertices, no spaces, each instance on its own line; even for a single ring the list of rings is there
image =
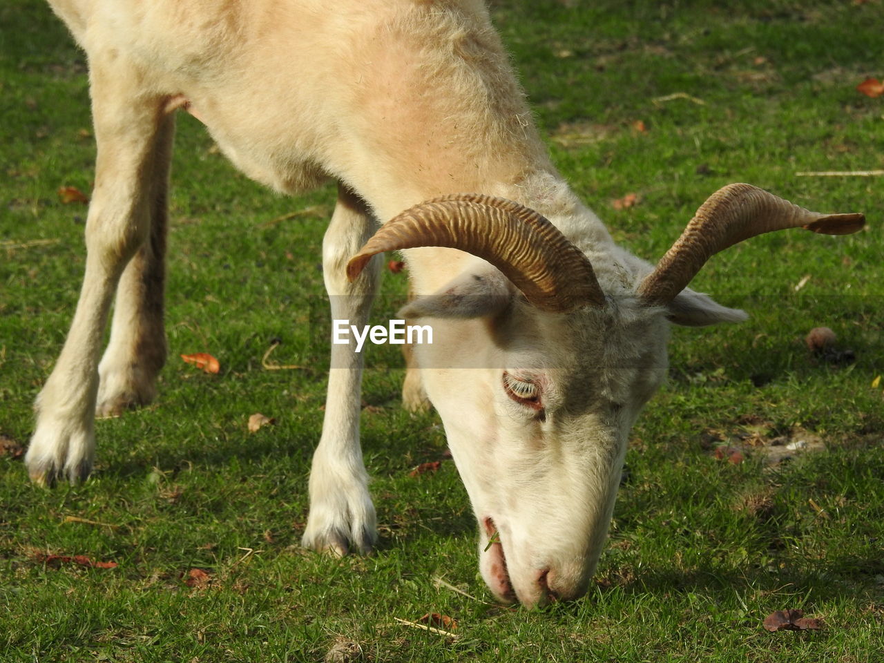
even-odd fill
[[[400,316],[432,320],[434,342],[415,347],[415,359],[469,493],[479,566],[497,598],[542,605],[587,590],[629,430],[666,375],[669,323],[745,317],[686,289],[705,261],[761,232],[844,234],[863,223],[728,185],[655,270],[608,292],[554,225],[504,199],[438,198],[369,240],[350,261],[350,278],[387,250],[448,247],[482,258]]]

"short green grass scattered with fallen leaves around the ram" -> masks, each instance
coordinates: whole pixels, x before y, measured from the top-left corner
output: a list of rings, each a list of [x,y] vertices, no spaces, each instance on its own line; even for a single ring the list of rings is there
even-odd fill
[[[590,595],[529,611],[494,606],[484,589],[438,417],[400,408],[392,348],[372,348],[364,387],[379,550],[338,560],[298,545],[323,415],[318,264],[334,191],[267,192],[193,118],[179,120],[173,166],[160,395],[97,423],[86,484],[27,482],[15,444],[27,445],[84,264],[86,207],[57,190],[88,193],[95,147],[82,54],[42,2],[7,0],[0,660],[884,659],[884,385],[873,386],[884,179],[796,175],[884,168],[884,96],[856,89],[884,76],[881,11],[880,0],[492,3],[555,162],[636,254],[662,255],[729,181],[869,219],[849,237],[758,237],[705,267],[693,286],[751,319],[674,331]],[[405,277],[386,274],[378,321]],[[804,335],[820,325],[855,361],[808,352]],[[264,370],[272,339],[271,362],[306,368]],[[178,359],[195,352],[221,372]],[[255,412],[278,422],[249,433]],[[770,464],[771,450],[801,441],[824,449]],[[409,476],[436,460],[437,472]],[[793,608],[823,628],[763,629]],[[456,620],[456,638],[397,621],[425,613]]]

